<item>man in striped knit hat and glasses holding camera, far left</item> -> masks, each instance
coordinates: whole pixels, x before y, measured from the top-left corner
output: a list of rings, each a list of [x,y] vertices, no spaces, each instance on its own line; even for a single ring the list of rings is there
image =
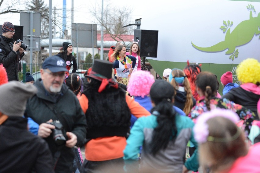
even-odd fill
[[[8,81],[18,80],[18,70],[21,70],[20,60],[24,52],[21,48],[22,42],[13,43],[15,33],[14,26],[10,22],[2,25],[2,35],[0,35],[0,63],[6,69]]]

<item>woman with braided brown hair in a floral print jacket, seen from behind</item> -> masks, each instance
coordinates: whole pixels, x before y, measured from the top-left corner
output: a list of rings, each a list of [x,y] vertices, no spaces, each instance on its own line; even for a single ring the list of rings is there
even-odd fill
[[[198,103],[191,110],[191,118],[196,122],[197,117],[206,111],[215,108],[229,109],[237,113],[241,120],[244,121],[243,129],[248,136],[255,113],[240,104],[235,104],[227,99],[216,97],[218,80],[211,72],[201,72],[196,79],[197,93],[200,96]]]

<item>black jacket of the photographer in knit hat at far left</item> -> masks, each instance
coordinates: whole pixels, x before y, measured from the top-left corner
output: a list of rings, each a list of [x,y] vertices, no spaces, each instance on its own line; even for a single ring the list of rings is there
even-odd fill
[[[0,63],[3,64],[6,69],[8,81],[18,80],[17,53],[13,51],[12,41],[12,38],[8,39],[0,35]],[[20,58],[23,58],[23,55],[21,55]]]

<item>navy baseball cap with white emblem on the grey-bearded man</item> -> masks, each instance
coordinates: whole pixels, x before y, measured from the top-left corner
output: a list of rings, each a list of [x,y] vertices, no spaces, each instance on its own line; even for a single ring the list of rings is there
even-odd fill
[[[56,55],[46,58],[42,64],[42,68],[49,69],[53,73],[68,72],[65,61]]]

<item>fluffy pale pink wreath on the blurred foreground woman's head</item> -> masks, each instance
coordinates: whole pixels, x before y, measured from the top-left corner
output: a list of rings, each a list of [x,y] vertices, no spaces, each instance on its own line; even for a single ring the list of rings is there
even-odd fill
[[[230,139],[216,138],[213,136],[209,136],[207,121],[210,118],[214,118],[217,116],[227,118],[232,122],[234,122],[235,124],[237,124],[237,122],[240,120],[239,116],[235,112],[228,109],[216,108],[201,114],[197,118],[196,124],[193,127],[194,138],[198,143],[205,143],[207,141],[228,142],[236,139],[240,135],[240,131],[238,130],[237,133],[234,136],[232,136]]]

